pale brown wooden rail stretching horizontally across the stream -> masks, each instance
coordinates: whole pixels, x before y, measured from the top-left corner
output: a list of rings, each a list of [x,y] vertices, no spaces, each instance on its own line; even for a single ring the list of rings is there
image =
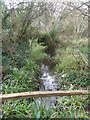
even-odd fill
[[[39,98],[39,97],[51,97],[51,96],[73,96],[73,95],[90,95],[87,90],[70,90],[70,91],[34,91],[34,92],[22,92],[12,94],[0,95],[0,100],[14,100],[24,98]]]

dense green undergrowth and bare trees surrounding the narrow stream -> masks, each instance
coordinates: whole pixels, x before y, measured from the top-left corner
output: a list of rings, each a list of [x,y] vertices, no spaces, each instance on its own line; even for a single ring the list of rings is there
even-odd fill
[[[21,2],[8,8],[0,1],[0,6],[3,94],[39,90],[42,64],[57,75],[58,89],[89,88],[87,16],[63,3]],[[88,96],[58,97],[50,108],[35,99],[13,100],[2,104],[2,116],[89,119],[88,105]]]

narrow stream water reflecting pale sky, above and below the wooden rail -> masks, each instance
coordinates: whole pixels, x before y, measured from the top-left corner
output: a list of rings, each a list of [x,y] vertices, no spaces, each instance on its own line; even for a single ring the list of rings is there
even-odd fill
[[[55,81],[55,75],[49,71],[49,67],[42,65],[41,67],[41,86],[40,91],[54,91],[57,90],[57,83]],[[56,97],[45,97],[36,100],[37,104],[46,104],[47,107],[54,106],[56,102]]]

